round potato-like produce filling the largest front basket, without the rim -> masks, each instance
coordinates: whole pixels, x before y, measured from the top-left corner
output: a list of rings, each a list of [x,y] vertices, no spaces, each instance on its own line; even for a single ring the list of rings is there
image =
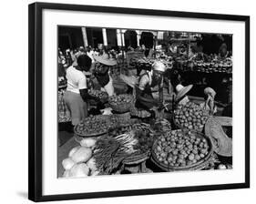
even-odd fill
[[[169,168],[191,166],[210,153],[210,144],[194,131],[172,130],[158,138],[153,153],[160,164]]]

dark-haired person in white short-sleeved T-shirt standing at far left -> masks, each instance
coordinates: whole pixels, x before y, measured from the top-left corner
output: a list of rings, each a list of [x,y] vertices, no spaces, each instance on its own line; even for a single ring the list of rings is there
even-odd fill
[[[77,66],[67,68],[67,91],[64,94],[64,100],[71,113],[73,126],[87,117],[87,99],[97,100],[88,94],[87,77],[83,74],[83,71],[88,71],[90,66],[91,58],[81,55],[77,57]]]

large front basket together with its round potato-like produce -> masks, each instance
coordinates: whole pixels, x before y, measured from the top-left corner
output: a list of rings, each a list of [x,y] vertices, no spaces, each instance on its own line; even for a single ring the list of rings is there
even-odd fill
[[[152,161],[165,171],[201,169],[213,153],[210,138],[189,129],[171,130],[153,144]]]

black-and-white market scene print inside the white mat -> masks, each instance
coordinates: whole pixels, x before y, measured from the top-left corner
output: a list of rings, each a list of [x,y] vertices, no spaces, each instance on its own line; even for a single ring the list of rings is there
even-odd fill
[[[232,46],[200,29],[58,25],[57,177],[229,174]]]

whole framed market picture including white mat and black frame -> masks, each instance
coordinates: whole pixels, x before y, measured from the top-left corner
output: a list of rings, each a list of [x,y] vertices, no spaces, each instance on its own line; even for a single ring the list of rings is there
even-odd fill
[[[250,16],[35,3],[28,46],[29,199],[250,187]]]

